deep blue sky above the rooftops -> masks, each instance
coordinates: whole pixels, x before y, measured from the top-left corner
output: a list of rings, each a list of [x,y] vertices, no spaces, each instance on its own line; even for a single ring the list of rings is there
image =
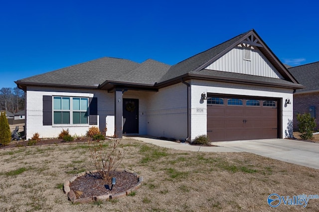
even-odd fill
[[[2,0],[0,88],[101,57],[173,65],[254,28],[277,57],[319,61],[318,1]]]

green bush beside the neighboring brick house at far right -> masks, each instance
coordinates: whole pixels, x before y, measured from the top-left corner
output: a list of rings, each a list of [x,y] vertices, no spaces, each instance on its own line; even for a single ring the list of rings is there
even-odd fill
[[[304,140],[313,139],[314,129],[317,126],[314,117],[311,117],[310,113],[297,114],[298,127],[300,132],[300,137]]]

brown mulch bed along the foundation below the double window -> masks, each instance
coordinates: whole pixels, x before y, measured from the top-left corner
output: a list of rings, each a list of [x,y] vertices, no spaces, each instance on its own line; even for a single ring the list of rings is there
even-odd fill
[[[37,141],[35,144],[33,144],[32,146],[40,146],[40,145],[47,145],[47,144],[63,144],[63,143],[85,143],[88,141],[92,141],[92,138],[90,137],[84,137],[83,139],[77,139],[74,141],[63,141],[63,139],[57,139],[57,138],[45,138],[45,139],[41,139],[40,141]],[[27,140],[20,140],[20,141],[11,141],[9,143],[9,145],[6,146],[1,146],[0,145],[0,149],[5,149],[5,148],[13,148],[13,147],[25,147],[28,146],[27,145],[28,141]]]

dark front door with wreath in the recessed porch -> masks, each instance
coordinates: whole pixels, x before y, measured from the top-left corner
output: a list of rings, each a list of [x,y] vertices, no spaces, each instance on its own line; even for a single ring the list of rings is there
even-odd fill
[[[139,100],[123,99],[123,133],[139,133]]]

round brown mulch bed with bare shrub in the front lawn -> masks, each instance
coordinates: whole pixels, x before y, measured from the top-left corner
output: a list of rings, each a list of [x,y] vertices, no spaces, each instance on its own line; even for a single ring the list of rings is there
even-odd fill
[[[101,195],[125,192],[136,186],[139,181],[138,177],[128,172],[113,171],[111,177],[116,177],[116,184],[113,186],[112,191],[112,179],[104,181],[98,172],[78,177],[70,183],[70,189],[74,191],[77,198],[94,198]]]

